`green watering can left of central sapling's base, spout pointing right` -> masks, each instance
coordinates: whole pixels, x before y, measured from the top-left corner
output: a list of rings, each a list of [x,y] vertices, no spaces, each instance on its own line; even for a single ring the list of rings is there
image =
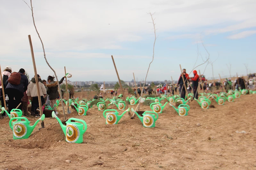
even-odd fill
[[[112,112],[112,111],[114,111],[114,112]],[[129,112],[129,111],[130,111],[130,108],[128,108],[126,111],[124,111],[121,115],[118,115],[118,112],[115,109],[107,109],[103,112],[103,116],[106,119],[106,124],[115,125],[118,123],[118,121],[124,115],[124,113]]]

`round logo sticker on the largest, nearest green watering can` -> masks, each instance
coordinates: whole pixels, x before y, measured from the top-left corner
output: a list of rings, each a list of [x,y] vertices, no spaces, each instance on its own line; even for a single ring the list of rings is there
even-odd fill
[[[74,124],[67,124],[66,127],[66,141],[68,143],[74,143],[78,140],[80,131]]]

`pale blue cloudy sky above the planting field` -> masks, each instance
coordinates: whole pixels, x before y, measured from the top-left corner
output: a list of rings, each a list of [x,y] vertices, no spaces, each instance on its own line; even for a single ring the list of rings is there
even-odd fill
[[[46,65],[33,26],[31,11],[22,0],[0,0],[0,64],[2,70],[24,68],[34,75],[28,35],[31,35],[37,73],[53,72]],[[29,0],[25,0],[28,4]],[[58,77],[72,73],[70,81],[117,81],[111,55],[122,80],[174,80],[179,65],[189,73],[210,54],[213,74],[255,73],[255,0],[33,0],[38,32],[46,58]],[[201,41],[202,40],[202,41]],[[206,50],[202,46],[204,44]],[[196,62],[196,64],[195,64]],[[196,68],[212,77],[211,65]],[[206,67],[206,68],[205,68]],[[190,74],[192,76],[192,73]]]

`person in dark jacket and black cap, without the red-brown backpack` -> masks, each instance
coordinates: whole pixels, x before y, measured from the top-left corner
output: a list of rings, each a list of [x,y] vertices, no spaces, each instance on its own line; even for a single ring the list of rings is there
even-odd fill
[[[25,75],[25,70],[21,68],[19,73],[21,74],[21,81],[19,85],[11,84],[8,82],[8,80],[6,81],[6,94],[9,97],[9,112],[12,109],[15,109],[21,103],[24,91],[26,91],[28,88],[29,80]],[[22,109],[22,106],[20,105],[18,109]]]

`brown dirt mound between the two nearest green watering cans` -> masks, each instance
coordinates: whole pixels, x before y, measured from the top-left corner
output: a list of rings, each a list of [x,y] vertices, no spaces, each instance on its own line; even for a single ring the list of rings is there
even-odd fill
[[[48,125],[46,128],[40,129],[23,140],[9,140],[7,145],[12,147],[33,149],[33,148],[50,148],[56,142],[65,141],[65,135],[59,123]]]

